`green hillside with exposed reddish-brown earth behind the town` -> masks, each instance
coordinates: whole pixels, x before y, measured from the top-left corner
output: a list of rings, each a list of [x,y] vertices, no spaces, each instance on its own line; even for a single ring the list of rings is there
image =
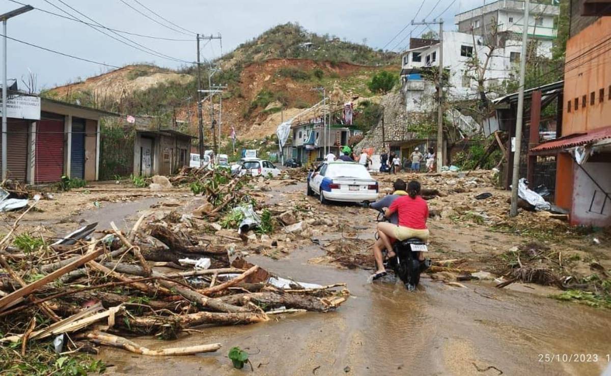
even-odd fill
[[[305,44],[305,43],[312,43]],[[238,138],[263,138],[276,130],[282,117],[289,118],[320,101],[326,88],[331,102],[371,98],[367,82],[381,69],[398,73],[390,63],[396,54],[367,46],[320,37],[295,24],[276,26],[224,55],[217,65],[222,72],[213,85],[227,85],[222,102],[222,133],[233,126]],[[202,86],[207,88],[207,66]],[[44,93],[56,99],[126,115],[158,116],[197,134],[196,69],[170,71],[150,65],[130,65],[87,80],[53,88]],[[218,116],[215,97],[215,117]],[[204,123],[210,124],[210,102],[204,103]],[[208,129],[208,126],[206,127]]]

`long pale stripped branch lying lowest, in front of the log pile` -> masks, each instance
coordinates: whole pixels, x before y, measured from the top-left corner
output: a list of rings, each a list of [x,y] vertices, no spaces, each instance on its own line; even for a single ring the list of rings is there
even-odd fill
[[[169,349],[148,349],[147,347],[140,346],[129,339],[108,333],[98,332],[97,330],[83,333],[82,335],[79,335],[78,338],[86,338],[98,344],[119,347],[119,349],[128,350],[136,354],[152,356],[194,355],[203,352],[215,352],[216,350],[221,349],[220,343],[187,347],[171,347]]]

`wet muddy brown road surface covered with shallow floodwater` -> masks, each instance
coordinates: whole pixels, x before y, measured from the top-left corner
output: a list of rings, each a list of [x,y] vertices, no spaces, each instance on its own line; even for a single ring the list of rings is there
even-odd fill
[[[303,184],[285,186],[269,194],[269,200],[277,204],[283,196],[304,191]],[[307,200],[319,205],[315,198]],[[339,211],[338,221],[346,221],[348,230],[358,232],[359,239],[372,238],[373,211],[344,206]],[[437,247],[459,244],[454,253],[463,249],[465,254],[477,254],[501,246],[498,237],[486,238],[477,231],[447,223],[433,222],[430,227]],[[392,277],[367,283],[370,271],[320,262],[326,257],[324,246],[343,236],[346,228],[314,233],[320,244],[300,245],[279,260],[249,257],[262,268],[296,280],[346,282],[351,297],[337,311],[282,314],[262,324],[206,328],[205,334],[192,332],[176,341],[138,339],[150,347],[220,342],[223,349],[209,355],[142,357],[102,347],[99,356],[108,364],[108,374],[249,374],[249,369],[233,369],[226,357],[233,346],[251,354],[254,374],[261,375],[598,375],[608,364],[607,310],[548,299],[551,289],[538,285],[497,289],[491,283],[464,282],[461,288],[423,275],[417,291],[408,293]],[[571,361],[566,358],[582,354]]]

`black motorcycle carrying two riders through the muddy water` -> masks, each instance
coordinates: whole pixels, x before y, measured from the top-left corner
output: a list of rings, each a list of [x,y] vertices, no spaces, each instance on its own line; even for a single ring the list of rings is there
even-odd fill
[[[389,219],[384,216],[382,211],[378,213],[378,222],[389,222]],[[376,239],[379,234],[376,232]],[[416,252],[428,252],[426,243],[419,238],[409,238],[403,241],[395,241],[392,245],[395,256],[388,258],[388,251],[382,251],[382,260],[387,260],[385,268],[391,269],[397,277],[403,282],[408,291],[414,291],[420,282],[420,273],[431,266],[430,258],[424,261],[418,260]],[[377,265],[376,265],[377,267]],[[377,268],[376,268],[377,269]]]

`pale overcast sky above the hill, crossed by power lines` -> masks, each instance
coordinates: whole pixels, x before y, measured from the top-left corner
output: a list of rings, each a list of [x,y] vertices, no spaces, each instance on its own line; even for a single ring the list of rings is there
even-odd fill
[[[96,62],[122,66],[133,62],[150,62],[156,65],[177,68],[184,63],[153,56],[126,46],[117,40],[101,34],[92,27],[54,15],[40,12],[49,10],[65,15],[57,9],[66,10],[81,20],[86,20],[67,5],[89,16],[103,26],[137,34],[155,37],[192,39],[191,41],[164,41],[150,38],[124,35],[146,48],[175,59],[192,62],[196,59],[194,36],[180,34],[176,26],[156,18],[141,5],[163,16],[172,23],[187,30],[201,34],[222,34],[222,52],[229,52],[243,41],[261,34],[277,24],[298,22],[306,29],[317,34],[337,35],[349,41],[367,44],[373,48],[384,48],[404,26],[414,18],[422,0],[353,0],[348,2],[331,2],[328,0],[20,0],[37,8],[31,12],[16,16],[8,21],[7,35],[28,43],[37,44],[66,54],[76,55]],[[444,12],[445,30],[455,29],[453,16],[472,7],[481,5],[485,0],[425,0],[417,20],[428,14],[433,18]],[[155,21],[131,9],[130,4]],[[491,1],[488,1],[491,2]],[[437,7],[434,5],[438,4]],[[56,5],[54,7],[52,4]],[[452,5],[450,5],[452,4]],[[10,0],[0,0],[0,12],[8,12],[20,7]],[[430,13],[432,10],[432,13]],[[436,26],[433,26],[437,30]],[[399,37],[389,43],[386,49],[402,49],[409,40],[412,26],[404,30]],[[415,30],[422,30],[422,26]],[[428,29],[425,29],[428,30]],[[117,35],[105,30],[113,37]],[[1,33],[1,32],[0,32]],[[407,37],[406,37],[407,36]],[[414,36],[416,36],[414,34]],[[399,43],[404,37],[406,39]],[[130,43],[123,40],[126,43]],[[204,42],[205,43],[205,42]],[[203,43],[202,43],[203,44]],[[49,88],[100,74],[109,68],[94,63],[81,62],[68,57],[53,54],[17,41],[8,41],[9,79],[16,78],[21,86],[22,76],[28,69],[38,76],[38,89]],[[144,48],[142,48],[144,49]],[[211,41],[203,48],[202,56],[210,59],[221,54],[218,40]]]

